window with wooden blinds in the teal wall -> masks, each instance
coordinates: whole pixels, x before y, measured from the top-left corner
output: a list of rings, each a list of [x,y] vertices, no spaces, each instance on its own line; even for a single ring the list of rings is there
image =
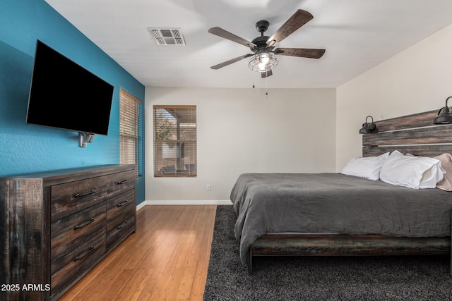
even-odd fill
[[[136,164],[137,176],[141,175],[140,104],[139,99],[119,89],[119,161],[121,164]]]

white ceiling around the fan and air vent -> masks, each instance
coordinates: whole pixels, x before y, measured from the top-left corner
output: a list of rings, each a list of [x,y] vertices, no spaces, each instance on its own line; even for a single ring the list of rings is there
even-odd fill
[[[149,87],[338,87],[452,23],[451,0],[46,0],[98,47]],[[222,29],[251,41],[297,9],[314,19],[278,47],[324,48],[319,60],[278,56],[262,79],[241,44],[208,33]],[[148,27],[177,27],[186,46],[158,46]]]

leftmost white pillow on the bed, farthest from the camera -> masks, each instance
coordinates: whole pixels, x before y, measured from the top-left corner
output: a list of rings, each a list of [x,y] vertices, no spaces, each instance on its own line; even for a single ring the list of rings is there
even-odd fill
[[[389,153],[387,152],[380,156],[350,159],[340,173],[347,176],[367,178],[369,180],[379,180],[381,166],[388,156]]]

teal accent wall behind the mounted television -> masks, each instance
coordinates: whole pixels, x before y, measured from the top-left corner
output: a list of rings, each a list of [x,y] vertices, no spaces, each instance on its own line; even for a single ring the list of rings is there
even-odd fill
[[[88,147],[79,147],[77,132],[25,124],[37,39],[114,85],[107,136],[96,135]],[[44,0],[1,0],[0,176],[119,164],[119,87],[142,101],[143,123],[145,87],[138,80]],[[61,91],[61,106],[64,93]],[[74,113],[95,118],[89,108]],[[144,137],[143,124],[140,129]],[[140,169],[137,204],[145,197],[143,162]]]

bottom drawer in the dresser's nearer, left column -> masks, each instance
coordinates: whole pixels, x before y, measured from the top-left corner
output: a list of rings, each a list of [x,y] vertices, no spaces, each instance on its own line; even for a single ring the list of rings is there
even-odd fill
[[[101,228],[86,240],[52,257],[51,262],[51,295],[57,293],[65,285],[76,280],[87,268],[105,252],[105,227]]]

